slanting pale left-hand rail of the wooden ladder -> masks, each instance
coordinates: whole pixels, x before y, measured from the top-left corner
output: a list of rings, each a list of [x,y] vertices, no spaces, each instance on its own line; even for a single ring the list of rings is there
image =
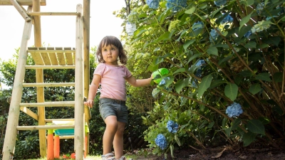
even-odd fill
[[[31,9],[31,7],[28,7]],[[12,91],[12,100],[9,109],[9,117],[7,121],[6,134],[3,145],[3,156],[2,159],[10,159],[10,156],[14,154],[14,148],[16,144],[17,129],[19,124],[19,114],[20,114],[20,103],[23,93],[23,81],[25,78],[25,65],[28,53],[26,52],[28,48],[28,40],[31,37],[31,21],[25,22],[23,36],[21,40],[21,48],[19,51],[19,58],[16,68],[16,75]]]

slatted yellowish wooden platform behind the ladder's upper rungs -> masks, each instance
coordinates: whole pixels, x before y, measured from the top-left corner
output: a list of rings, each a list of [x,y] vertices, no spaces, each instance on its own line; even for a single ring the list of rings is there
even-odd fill
[[[28,48],[36,65],[75,65],[75,48]]]

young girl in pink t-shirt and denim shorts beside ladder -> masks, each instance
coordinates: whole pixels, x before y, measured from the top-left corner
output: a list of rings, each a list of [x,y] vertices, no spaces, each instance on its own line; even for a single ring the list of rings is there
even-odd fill
[[[103,135],[102,159],[120,159],[123,156],[123,133],[128,122],[128,107],[125,106],[125,80],[135,87],[149,85],[152,78],[136,80],[125,67],[127,56],[122,43],[114,36],[105,36],[96,53],[99,64],[93,73],[88,100],[85,105],[93,107],[94,97],[100,85],[100,115],[106,129]],[[120,64],[118,63],[120,60]],[[115,151],[112,154],[112,143]]]

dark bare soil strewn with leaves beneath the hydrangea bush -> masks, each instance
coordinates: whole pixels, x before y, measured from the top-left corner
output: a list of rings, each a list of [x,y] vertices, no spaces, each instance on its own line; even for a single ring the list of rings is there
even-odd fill
[[[167,154],[164,156],[148,155],[138,156],[138,160],[285,160],[285,150],[272,149],[270,147],[239,147],[239,146],[221,146],[218,148],[209,148],[202,150],[180,149],[174,151],[173,156]],[[134,159],[135,160],[135,159]]]

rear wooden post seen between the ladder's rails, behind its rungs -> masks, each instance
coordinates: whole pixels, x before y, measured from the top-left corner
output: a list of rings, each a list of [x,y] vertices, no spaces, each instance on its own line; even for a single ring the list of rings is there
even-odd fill
[[[33,11],[41,11],[41,1],[33,0]],[[41,16],[33,16],[33,33],[35,47],[41,47]],[[36,64],[38,65],[38,64]],[[36,69],[36,82],[43,82],[43,69]],[[37,102],[44,102],[43,87],[36,87]],[[45,125],[45,107],[38,107],[38,125]],[[46,156],[46,130],[38,130],[40,154]]]

